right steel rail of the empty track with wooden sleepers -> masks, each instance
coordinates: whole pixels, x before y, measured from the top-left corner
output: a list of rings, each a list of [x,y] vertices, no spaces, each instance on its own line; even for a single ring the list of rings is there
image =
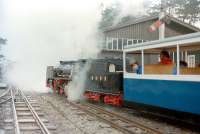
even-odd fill
[[[43,134],[50,134],[49,130],[47,129],[47,127],[44,125],[44,123],[42,122],[42,120],[40,119],[40,117],[38,116],[37,112],[34,110],[34,108],[31,106],[29,100],[27,99],[27,97],[24,95],[24,93],[21,90],[18,90],[19,94],[22,96],[23,100],[25,101],[25,103],[27,104],[29,110],[31,111],[35,121],[37,122],[38,126],[40,127],[41,131]]]

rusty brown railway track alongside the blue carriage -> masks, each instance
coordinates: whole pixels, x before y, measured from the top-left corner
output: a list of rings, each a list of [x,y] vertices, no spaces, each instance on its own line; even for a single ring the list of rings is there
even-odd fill
[[[85,104],[85,103],[74,103],[67,102],[78,109],[85,111],[86,113],[96,116],[100,120],[109,124],[111,127],[125,133],[125,134],[136,134],[138,132],[144,134],[162,134],[160,131],[145,126],[139,122],[129,120],[119,114],[114,112],[107,111],[101,107],[98,107],[93,104]]]

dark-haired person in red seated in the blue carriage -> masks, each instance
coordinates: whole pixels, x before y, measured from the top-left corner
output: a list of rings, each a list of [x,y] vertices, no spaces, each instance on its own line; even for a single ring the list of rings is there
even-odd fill
[[[160,53],[160,64],[173,64],[172,60],[170,59],[169,53],[165,50],[161,51]]]

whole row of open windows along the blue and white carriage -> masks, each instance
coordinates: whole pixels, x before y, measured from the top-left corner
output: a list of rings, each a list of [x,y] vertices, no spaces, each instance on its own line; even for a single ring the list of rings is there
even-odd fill
[[[143,53],[143,54],[142,54]],[[125,53],[125,71],[143,75],[200,75],[200,44],[174,44]]]

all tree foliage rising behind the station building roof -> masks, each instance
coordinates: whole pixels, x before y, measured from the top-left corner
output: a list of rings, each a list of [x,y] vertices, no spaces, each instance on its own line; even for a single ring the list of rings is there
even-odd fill
[[[200,0],[161,0],[162,7],[165,12],[171,16],[178,18],[189,24],[195,24],[200,21]],[[161,3],[152,4],[146,0],[144,3],[146,12],[148,15],[157,15],[161,10]],[[102,19],[99,23],[99,28],[113,26],[116,24],[116,18],[119,17],[121,12],[121,5],[119,3],[113,3],[111,6],[102,10]],[[136,16],[123,16],[118,23],[123,23],[129,20],[136,19]]]

